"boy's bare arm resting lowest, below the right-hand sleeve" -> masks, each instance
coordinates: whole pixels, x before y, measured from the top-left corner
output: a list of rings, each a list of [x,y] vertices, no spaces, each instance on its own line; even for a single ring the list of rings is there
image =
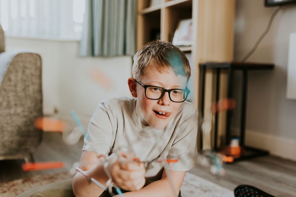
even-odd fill
[[[181,185],[183,183],[183,179],[186,174],[186,171],[173,171],[173,170],[169,170],[169,171],[172,176],[175,192],[172,191],[172,186],[164,170],[161,180],[150,183],[149,185],[147,185],[146,187],[138,191],[124,193],[123,194],[124,197],[138,197],[138,196],[172,197],[175,195],[174,193],[178,195],[181,189]],[[116,197],[120,197],[120,196],[116,195]]]

